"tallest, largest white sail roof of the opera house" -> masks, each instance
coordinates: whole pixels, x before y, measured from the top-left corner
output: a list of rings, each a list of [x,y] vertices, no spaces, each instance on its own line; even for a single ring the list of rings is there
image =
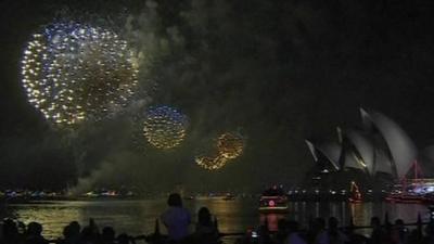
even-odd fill
[[[360,108],[360,113],[363,124],[366,124],[366,119],[369,119],[383,137],[395,164],[397,177],[405,177],[417,157],[417,149],[411,139],[395,121],[383,114],[376,112],[368,113],[363,108]],[[387,154],[384,156],[387,157]],[[375,160],[379,160],[379,158]],[[381,164],[381,162],[379,163]],[[379,164],[376,165],[379,168]]]

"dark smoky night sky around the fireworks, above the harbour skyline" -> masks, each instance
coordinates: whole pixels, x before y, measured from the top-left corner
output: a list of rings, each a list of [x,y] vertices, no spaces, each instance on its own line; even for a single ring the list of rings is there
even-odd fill
[[[357,127],[360,106],[395,119],[418,147],[434,143],[430,0],[71,2],[0,2],[3,188],[58,188],[78,171],[90,174],[88,183],[152,190],[296,183],[312,166],[304,139],[331,140],[336,126]],[[146,101],[189,116],[181,147],[133,150],[129,113],[71,132],[50,126],[27,103],[20,77],[24,47],[60,13],[113,22],[137,50],[155,57],[141,67],[140,81],[149,88]],[[194,165],[197,149],[234,130],[246,136],[242,157],[218,172]]]

